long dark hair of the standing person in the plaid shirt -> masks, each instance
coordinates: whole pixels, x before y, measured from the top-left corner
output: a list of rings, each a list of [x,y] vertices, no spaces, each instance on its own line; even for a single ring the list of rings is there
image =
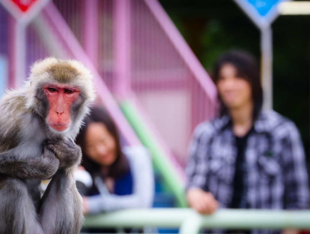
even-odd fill
[[[219,72],[225,64],[231,64],[237,69],[238,77],[247,80],[252,89],[252,100],[254,103],[253,120],[255,120],[263,106],[263,89],[260,83],[260,70],[255,58],[249,53],[241,50],[232,50],[222,54],[215,62],[212,79],[215,84],[219,80]],[[228,115],[228,109],[219,97],[220,116]]]

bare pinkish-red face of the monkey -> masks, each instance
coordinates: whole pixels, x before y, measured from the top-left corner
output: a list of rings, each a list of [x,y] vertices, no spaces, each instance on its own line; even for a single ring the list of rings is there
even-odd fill
[[[78,87],[68,84],[47,84],[43,86],[49,103],[47,124],[58,132],[69,128],[70,109],[72,103],[78,99]]]

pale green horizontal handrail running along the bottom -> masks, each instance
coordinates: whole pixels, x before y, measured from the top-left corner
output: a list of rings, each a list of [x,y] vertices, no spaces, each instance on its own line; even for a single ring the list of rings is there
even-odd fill
[[[190,208],[130,209],[86,216],[84,227],[170,227],[181,234],[196,234],[201,227],[229,229],[310,229],[310,210],[220,209],[200,215]]]

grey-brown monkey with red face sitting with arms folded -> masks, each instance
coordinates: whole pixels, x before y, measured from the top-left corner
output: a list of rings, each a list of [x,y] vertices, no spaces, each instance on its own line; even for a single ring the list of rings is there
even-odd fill
[[[20,89],[0,100],[0,234],[76,234],[82,197],[74,143],[95,100],[91,72],[76,60],[46,58]],[[41,180],[50,179],[41,197]]]

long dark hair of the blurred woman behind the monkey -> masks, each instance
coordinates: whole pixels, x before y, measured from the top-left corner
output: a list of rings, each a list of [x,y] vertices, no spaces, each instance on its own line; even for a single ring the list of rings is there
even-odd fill
[[[116,142],[116,160],[115,162],[109,166],[108,168],[108,177],[112,178],[119,178],[122,175],[126,174],[129,170],[129,163],[126,158],[126,156],[122,153],[121,144],[119,140],[119,134],[117,132],[117,128],[111,119],[110,115],[104,108],[100,107],[93,107],[91,108],[91,114],[87,115],[84,119],[84,126],[82,126],[78,137],[76,138],[75,142],[81,146],[82,148],[82,163],[81,165],[85,168],[86,171],[88,171],[92,176],[98,175],[101,173],[101,166],[98,163],[95,163],[85,152],[85,134],[86,129],[89,124],[93,122],[97,123],[103,123],[105,127],[107,128],[108,132],[112,135],[114,138],[114,141]]]

